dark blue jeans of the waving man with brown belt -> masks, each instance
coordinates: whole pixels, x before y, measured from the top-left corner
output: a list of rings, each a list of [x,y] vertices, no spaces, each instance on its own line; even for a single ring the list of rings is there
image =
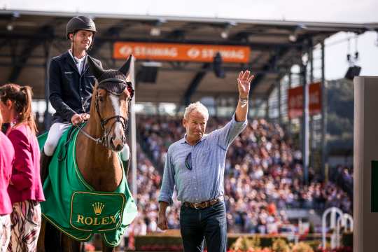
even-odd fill
[[[181,206],[180,227],[185,252],[203,251],[204,239],[208,252],[227,249],[225,202],[198,210]]]

